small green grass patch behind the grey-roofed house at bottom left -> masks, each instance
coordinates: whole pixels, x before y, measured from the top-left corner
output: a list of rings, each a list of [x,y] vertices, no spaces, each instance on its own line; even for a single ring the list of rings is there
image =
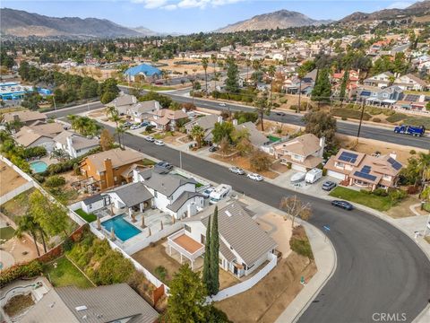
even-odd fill
[[[56,263],[56,268],[54,264]],[[93,285],[82,275],[79,269],[74,266],[69,259],[62,257],[47,264],[45,275],[50,278],[55,287],[77,286],[80,288],[88,288]]]

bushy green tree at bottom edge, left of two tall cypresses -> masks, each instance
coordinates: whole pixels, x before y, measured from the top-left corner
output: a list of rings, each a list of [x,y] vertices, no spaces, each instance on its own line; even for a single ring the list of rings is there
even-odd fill
[[[173,276],[168,297],[169,323],[203,323],[208,316],[206,291],[198,273],[188,264],[181,266]]]

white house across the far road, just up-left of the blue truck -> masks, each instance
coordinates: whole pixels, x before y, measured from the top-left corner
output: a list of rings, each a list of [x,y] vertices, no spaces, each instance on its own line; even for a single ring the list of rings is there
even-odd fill
[[[392,106],[404,97],[399,86],[391,85],[384,89],[374,86],[362,86],[357,89],[357,100],[366,100],[368,104],[379,106]]]

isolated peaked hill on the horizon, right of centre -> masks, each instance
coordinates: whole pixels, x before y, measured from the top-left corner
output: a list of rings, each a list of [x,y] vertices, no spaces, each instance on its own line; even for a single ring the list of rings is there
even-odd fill
[[[274,13],[259,14],[243,22],[230,24],[220,28],[217,32],[260,31],[265,29],[274,30],[277,28],[286,29],[289,27],[321,25],[330,22],[332,21],[314,20],[303,13],[280,10]]]

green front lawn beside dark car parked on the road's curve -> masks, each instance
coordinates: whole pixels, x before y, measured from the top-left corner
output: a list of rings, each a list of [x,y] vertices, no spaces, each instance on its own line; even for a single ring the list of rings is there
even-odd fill
[[[378,211],[387,211],[391,207],[391,201],[388,196],[375,196],[373,194],[366,194],[349,188],[334,188],[331,191],[330,196],[366,205]]]

